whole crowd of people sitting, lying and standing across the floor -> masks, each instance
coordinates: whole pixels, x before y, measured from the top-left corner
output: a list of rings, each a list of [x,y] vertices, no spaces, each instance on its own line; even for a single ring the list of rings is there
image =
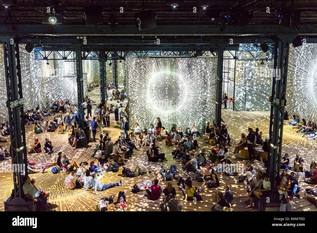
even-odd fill
[[[87,87],[93,89],[94,85],[89,84]],[[197,126],[192,125],[172,127],[166,130],[162,125],[161,119],[157,117],[156,124],[142,128],[139,123],[134,123],[130,127],[128,114],[125,112],[124,99],[125,92],[122,89],[118,94],[118,90],[113,87],[113,83],[107,84],[107,89],[113,89],[111,100],[117,100],[116,105],[108,105],[108,103],[96,104],[88,97],[85,98],[82,104],[85,113],[84,126],[79,125],[79,115],[77,106],[73,104],[70,107],[69,101],[55,100],[53,107],[48,111],[28,110],[25,113],[26,123],[34,124],[34,133],[53,132],[57,129],[57,134],[68,133],[68,144],[75,148],[81,148],[90,141],[97,142],[93,150],[91,161],[83,161],[79,165],[63,152],[58,152],[56,163],[40,163],[28,161],[28,174],[44,172],[45,169],[51,168],[54,174],[61,173],[65,176],[65,189],[82,189],[92,191],[95,195],[100,195],[99,192],[110,188],[115,188],[123,184],[120,179],[117,183],[102,184],[100,179],[108,174],[119,172],[122,166],[122,176],[126,178],[135,178],[138,176],[148,175],[153,172],[151,179],[146,179],[142,183],[134,184],[132,193],[144,192],[150,200],[158,200],[162,193],[165,196],[163,203],[159,208],[161,211],[181,211],[183,203],[187,201],[202,201],[202,191],[204,189],[214,189],[223,185],[224,192],[215,191],[214,205],[212,211],[230,211],[234,204],[234,195],[229,184],[220,184],[217,174],[224,172],[227,176],[237,176],[236,182],[245,185],[248,193],[246,204],[249,208],[256,208],[262,197],[268,197],[272,194],[272,186],[268,174],[265,173],[264,167],[267,161],[262,161],[263,169],[256,171],[252,165],[244,168],[243,172],[223,171],[223,165],[233,165],[232,156],[230,156],[228,147],[231,147],[231,138],[228,133],[227,124],[221,119],[220,127],[213,121],[207,123],[206,131],[201,132]],[[113,99],[112,99],[113,98]],[[225,97],[224,100],[228,100]],[[95,110],[93,111],[93,106]],[[121,111],[119,109],[121,108]],[[49,116],[53,111],[58,112],[52,121],[49,121]],[[55,112],[55,113],[56,113]],[[108,133],[104,133],[104,128],[110,128],[110,114],[114,113],[114,120],[119,123],[120,135],[112,139]],[[64,117],[63,117],[64,114]],[[45,117],[45,118],[44,118]],[[310,135],[312,124],[299,125],[298,117],[294,116],[294,120],[288,122],[293,128],[300,126],[298,131],[304,135]],[[304,123],[304,119],[302,119]],[[176,129],[177,128],[177,129]],[[306,134],[306,132],[309,132]],[[10,134],[8,125],[3,124],[0,130],[1,136],[6,137]],[[92,135],[92,136],[91,136]],[[242,133],[241,139],[234,148],[233,156],[239,154],[241,150],[247,148],[249,159],[255,159],[255,148],[261,148],[263,152],[268,152],[268,137],[262,139],[263,133],[256,128],[248,128],[248,133]],[[210,153],[207,153],[207,148],[200,147],[198,144],[199,138],[206,141],[206,144],[213,144],[214,148]],[[134,157],[134,151],[143,150],[145,147],[149,162],[166,162],[168,161],[164,152],[161,151],[162,140],[165,140],[165,146],[171,148],[172,159],[175,160],[169,167],[164,165],[157,166],[156,171],[143,168],[141,165],[135,168],[129,167],[128,160]],[[160,143],[159,143],[160,142]],[[164,143],[164,141],[163,141]],[[139,147],[139,148],[138,148]],[[45,139],[44,151],[48,154],[53,153],[53,144],[49,138]],[[74,149],[75,149],[74,148]],[[196,149],[199,149],[197,151]],[[29,153],[40,153],[41,144],[37,138],[34,139],[34,144],[30,147]],[[7,151],[0,145],[0,160],[10,156]],[[97,159],[97,161],[96,161]],[[178,171],[181,167],[183,172]],[[288,173],[288,170],[292,172]],[[118,173],[119,174],[119,173]],[[121,174],[120,174],[121,175]],[[161,187],[160,179],[168,181],[165,187]],[[201,183],[201,186],[196,187],[193,181]],[[174,183],[177,182],[177,183]],[[281,159],[281,176],[277,179],[277,191],[280,194],[281,211],[291,211],[292,203],[290,199],[300,198],[300,185],[302,183],[313,184],[310,189],[306,189],[304,198],[313,200],[307,194],[317,195],[317,164],[313,161],[309,170],[306,170],[306,163],[299,154],[294,159],[294,167],[289,164],[289,156]],[[164,183],[165,184],[165,183]],[[173,184],[175,187],[173,187]],[[273,184],[272,184],[273,185]],[[179,199],[176,194],[176,189],[183,193],[183,197]],[[23,186],[25,196],[33,201],[43,203],[49,206],[49,202],[45,202],[49,197],[49,193],[39,190],[35,186],[35,180],[26,178],[25,187]],[[115,195],[110,197],[102,197],[98,203],[100,211],[126,211],[128,209],[126,203],[126,194],[123,191],[118,193],[117,202],[114,202]],[[316,202],[316,201],[315,201]],[[113,208],[110,205],[114,204]]]

